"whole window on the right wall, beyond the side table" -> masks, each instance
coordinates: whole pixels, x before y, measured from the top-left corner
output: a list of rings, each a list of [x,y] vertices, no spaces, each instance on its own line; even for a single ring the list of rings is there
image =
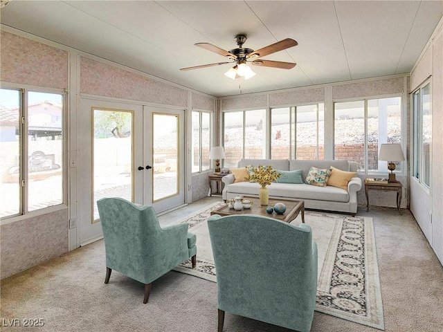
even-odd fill
[[[427,187],[431,181],[432,109],[427,82],[413,92],[413,174]]]

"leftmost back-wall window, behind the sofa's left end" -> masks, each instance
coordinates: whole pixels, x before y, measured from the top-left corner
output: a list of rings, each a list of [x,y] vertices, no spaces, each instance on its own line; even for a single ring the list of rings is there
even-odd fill
[[[266,158],[266,109],[223,113],[224,167],[242,158]]]

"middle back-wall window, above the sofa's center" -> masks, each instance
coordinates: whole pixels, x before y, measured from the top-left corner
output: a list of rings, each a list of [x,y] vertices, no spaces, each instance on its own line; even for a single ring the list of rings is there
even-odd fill
[[[324,104],[271,109],[271,158],[324,159]]]

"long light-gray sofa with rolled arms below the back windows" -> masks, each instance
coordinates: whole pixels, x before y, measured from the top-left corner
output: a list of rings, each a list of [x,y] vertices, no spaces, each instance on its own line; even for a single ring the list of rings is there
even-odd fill
[[[357,164],[347,160],[288,160],[288,159],[242,159],[238,167],[252,165],[272,165],[273,169],[281,171],[292,171],[302,169],[302,179],[305,181],[311,166],[327,168],[333,166],[347,172],[356,172]],[[258,183],[237,182],[233,174],[222,178],[224,182],[223,199],[233,199],[237,195],[248,195],[258,197]],[[305,201],[305,208],[316,210],[328,210],[338,212],[349,212],[353,216],[357,212],[357,192],[361,190],[361,179],[354,177],[347,185],[347,190],[332,187],[318,187],[316,185],[294,184],[294,183],[271,183],[269,197],[271,199],[289,198]]]

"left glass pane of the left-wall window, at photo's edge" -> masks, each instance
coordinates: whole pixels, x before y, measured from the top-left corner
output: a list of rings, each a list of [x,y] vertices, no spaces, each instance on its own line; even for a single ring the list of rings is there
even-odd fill
[[[0,89],[0,217],[20,208],[20,91]]]

